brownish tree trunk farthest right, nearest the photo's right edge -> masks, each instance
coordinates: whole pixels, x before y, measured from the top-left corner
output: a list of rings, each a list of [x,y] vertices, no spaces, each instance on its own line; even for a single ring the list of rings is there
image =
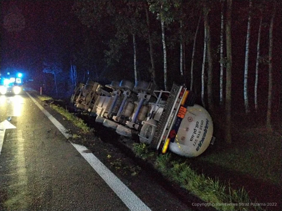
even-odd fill
[[[272,101],[272,47],[273,47],[273,19],[275,15],[275,8],[273,9],[270,27],[269,27],[269,51],[268,51],[268,103],[266,113],[266,127],[271,130],[271,101]]]

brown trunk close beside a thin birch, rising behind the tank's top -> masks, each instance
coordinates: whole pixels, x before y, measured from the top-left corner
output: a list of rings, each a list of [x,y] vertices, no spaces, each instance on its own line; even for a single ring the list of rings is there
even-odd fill
[[[209,111],[213,111],[213,96],[212,96],[212,47],[211,47],[211,36],[210,36],[210,28],[209,28],[209,11],[208,8],[205,9],[204,19],[205,19],[205,29],[207,30],[207,56],[208,56],[208,83],[207,83],[207,91],[208,91],[208,103],[209,103]]]

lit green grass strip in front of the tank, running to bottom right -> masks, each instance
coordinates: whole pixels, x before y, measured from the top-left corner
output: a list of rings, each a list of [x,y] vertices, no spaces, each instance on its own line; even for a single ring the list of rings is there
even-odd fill
[[[214,181],[204,174],[198,175],[186,162],[171,160],[169,153],[157,156],[155,167],[169,180],[178,183],[205,202],[211,203],[217,210],[263,210],[260,206],[250,206],[251,200],[244,188],[234,190],[230,185],[220,184],[219,180]]]

